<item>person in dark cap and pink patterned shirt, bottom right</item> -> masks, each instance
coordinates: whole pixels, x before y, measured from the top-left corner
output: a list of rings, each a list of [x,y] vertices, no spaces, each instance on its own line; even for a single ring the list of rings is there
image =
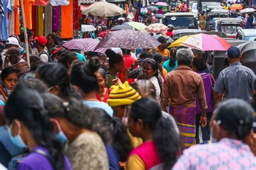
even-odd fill
[[[186,149],[173,169],[256,169],[256,157],[246,144],[252,135],[252,125],[253,108],[246,101],[224,101],[211,121],[217,142]]]

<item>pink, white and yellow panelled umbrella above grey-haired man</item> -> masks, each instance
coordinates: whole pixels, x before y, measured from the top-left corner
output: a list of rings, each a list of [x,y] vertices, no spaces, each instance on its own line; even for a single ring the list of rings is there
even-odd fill
[[[198,33],[177,39],[169,47],[186,46],[200,51],[227,51],[231,45],[218,36]]]

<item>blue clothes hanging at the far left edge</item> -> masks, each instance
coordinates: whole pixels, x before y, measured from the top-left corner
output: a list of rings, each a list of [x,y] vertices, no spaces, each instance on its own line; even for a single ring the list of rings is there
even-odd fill
[[[12,11],[12,8],[11,8],[10,0],[2,0],[2,4],[3,4],[4,16],[2,15],[2,18],[1,18],[1,35],[2,35],[1,39],[5,40],[9,38],[8,12],[10,13]]]

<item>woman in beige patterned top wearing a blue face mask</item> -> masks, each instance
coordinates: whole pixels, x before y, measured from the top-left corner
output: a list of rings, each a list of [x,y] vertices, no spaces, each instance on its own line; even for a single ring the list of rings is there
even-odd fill
[[[66,144],[72,169],[109,169],[104,143],[92,128],[94,115],[89,108],[75,98],[66,106],[52,94],[44,94],[43,99],[58,140]]]

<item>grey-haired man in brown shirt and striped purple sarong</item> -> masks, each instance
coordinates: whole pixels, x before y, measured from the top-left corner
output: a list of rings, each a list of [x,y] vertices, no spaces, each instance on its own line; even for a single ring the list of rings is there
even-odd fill
[[[165,77],[161,94],[161,106],[166,110],[170,103],[169,112],[181,131],[185,148],[193,145],[196,136],[196,96],[202,112],[200,123],[203,127],[207,124],[203,79],[191,70],[192,58],[191,49],[177,51],[178,67]]]

